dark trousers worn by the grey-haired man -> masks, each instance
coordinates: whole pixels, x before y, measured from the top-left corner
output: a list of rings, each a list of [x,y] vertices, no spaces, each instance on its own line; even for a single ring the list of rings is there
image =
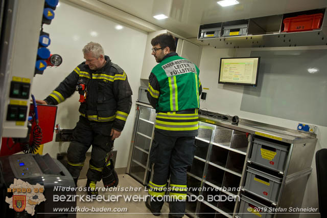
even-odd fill
[[[92,181],[101,180],[106,156],[113,145],[110,136],[111,127],[112,122],[89,121],[80,116],[67,151],[67,169],[74,179],[79,177],[85,161],[85,153],[92,145],[90,168],[86,176]]]

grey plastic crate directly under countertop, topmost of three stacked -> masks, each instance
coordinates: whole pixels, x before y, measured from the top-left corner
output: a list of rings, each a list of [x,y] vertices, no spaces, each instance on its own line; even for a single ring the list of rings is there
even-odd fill
[[[254,139],[251,162],[275,171],[284,172],[284,165],[288,155],[288,146]]]

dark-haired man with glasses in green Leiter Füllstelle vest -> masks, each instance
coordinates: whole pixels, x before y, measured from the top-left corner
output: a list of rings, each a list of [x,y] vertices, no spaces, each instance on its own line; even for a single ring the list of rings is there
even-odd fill
[[[157,115],[150,150],[150,198],[146,206],[158,216],[164,204],[162,198],[168,199],[169,217],[182,217],[187,190],[186,169],[193,162],[198,134],[202,92],[199,69],[193,62],[178,56],[172,35],[158,35],[151,44],[158,64],[149,76],[147,96]],[[169,195],[165,195],[166,190]]]

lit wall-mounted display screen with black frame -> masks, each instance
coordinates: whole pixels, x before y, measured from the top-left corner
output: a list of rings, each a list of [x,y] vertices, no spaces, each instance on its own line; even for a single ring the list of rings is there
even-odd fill
[[[220,58],[219,81],[223,84],[258,84],[260,57]]]

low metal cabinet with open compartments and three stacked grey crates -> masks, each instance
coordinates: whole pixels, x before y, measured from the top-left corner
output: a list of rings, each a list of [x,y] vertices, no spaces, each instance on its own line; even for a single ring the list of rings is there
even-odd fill
[[[314,134],[244,119],[238,125],[204,115],[199,120],[197,149],[187,170],[188,216],[279,218],[284,216],[275,213],[278,209],[301,207]],[[154,123],[155,110],[138,103],[128,173],[144,185]]]

